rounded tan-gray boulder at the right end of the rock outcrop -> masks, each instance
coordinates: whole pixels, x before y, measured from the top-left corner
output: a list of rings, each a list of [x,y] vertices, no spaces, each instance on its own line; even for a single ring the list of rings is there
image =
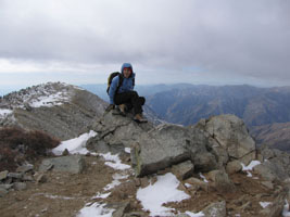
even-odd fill
[[[213,116],[209,119],[201,119],[196,128],[204,130],[214,140],[210,144],[219,165],[225,165],[231,158],[245,161],[245,164],[255,158],[255,141],[239,117],[235,115]]]

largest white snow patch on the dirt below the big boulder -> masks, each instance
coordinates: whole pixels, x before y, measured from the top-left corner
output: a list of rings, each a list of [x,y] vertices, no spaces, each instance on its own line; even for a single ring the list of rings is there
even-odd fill
[[[190,196],[178,190],[179,181],[171,173],[157,176],[157,181],[147,188],[138,189],[137,199],[144,209],[150,210],[150,216],[173,216],[173,208],[162,206],[168,202],[180,202]]]

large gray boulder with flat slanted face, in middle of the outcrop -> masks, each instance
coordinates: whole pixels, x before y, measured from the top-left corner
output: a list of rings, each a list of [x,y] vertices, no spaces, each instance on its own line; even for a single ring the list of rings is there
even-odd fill
[[[137,176],[153,174],[190,158],[188,131],[179,126],[162,125],[141,137],[131,152]]]

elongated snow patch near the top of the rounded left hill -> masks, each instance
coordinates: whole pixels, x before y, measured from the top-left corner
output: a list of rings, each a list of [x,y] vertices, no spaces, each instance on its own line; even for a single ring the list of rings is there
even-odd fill
[[[34,99],[29,102],[31,107],[41,107],[41,106],[53,106],[53,105],[61,105],[64,102],[68,102],[70,97],[64,94],[64,92],[56,92],[50,95],[39,97]]]

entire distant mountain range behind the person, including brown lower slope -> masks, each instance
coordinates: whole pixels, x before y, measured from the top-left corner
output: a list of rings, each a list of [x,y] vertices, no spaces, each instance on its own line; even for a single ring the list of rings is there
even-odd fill
[[[105,85],[81,87],[108,100]],[[290,131],[290,87],[177,84],[136,86],[136,89],[165,122],[188,126],[213,115],[235,114],[244,120],[260,144],[290,150],[290,133],[282,133]]]

